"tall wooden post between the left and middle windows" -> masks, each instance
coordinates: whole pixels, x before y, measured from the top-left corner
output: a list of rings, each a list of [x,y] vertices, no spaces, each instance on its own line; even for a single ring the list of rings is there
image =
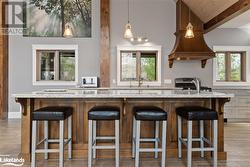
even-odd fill
[[[110,0],[101,0],[100,85],[110,86]]]

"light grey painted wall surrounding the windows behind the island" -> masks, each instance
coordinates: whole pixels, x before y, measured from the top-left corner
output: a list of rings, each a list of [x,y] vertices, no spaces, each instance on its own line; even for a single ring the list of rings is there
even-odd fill
[[[98,2],[97,2],[98,1]],[[175,62],[168,67],[168,54],[175,43],[175,3],[173,0],[132,0],[131,24],[133,32],[145,35],[151,45],[162,46],[162,80],[177,77],[199,77],[203,85],[212,85],[212,61],[206,68],[201,68],[200,61]],[[127,22],[127,0],[111,0],[111,83],[116,80],[116,46],[129,45],[123,39],[124,26]],[[32,86],[32,44],[78,44],[79,77],[99,75],[100,46],[100,4],[93,0],[92,38],[27,38],[12,36],[9,40],[9,109],[18,111],[19,106],[11,97],[13,93],[30,92],[44,87]],[[213,45],[250,45],[249,33],[240,29],[216,29],[205,35],[210,47]]]

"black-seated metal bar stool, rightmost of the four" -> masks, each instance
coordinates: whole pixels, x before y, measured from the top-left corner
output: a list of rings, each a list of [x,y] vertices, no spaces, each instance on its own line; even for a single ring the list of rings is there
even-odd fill
[[[218,115],[217,112],[198,106],[179,107],[176,109],[178,115],[178,157],[182,157],[181,144],[187,146],[187,166],[192,166],[192,152],[200,151],[201,157],[204,157],[204,151],[213,152],[213,166],[217,166],[217,141],[218,141]],[[182,118],[187,120],[187,138],[182,138]],[[204,120],[213,121],[213,143],[204,137]],[[192,123],[199,121],[200,123],[200,137],[192,137]],[[192,142],[200,142],[199,148],[193,148]],[[210,147],[204,147],[204,142],[208,143]]]

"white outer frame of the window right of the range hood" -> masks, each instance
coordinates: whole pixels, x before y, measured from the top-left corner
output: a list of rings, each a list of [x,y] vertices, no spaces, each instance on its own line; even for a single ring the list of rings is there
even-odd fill
[[[249,72],[249,55],[250,55],[250,47],[249,46],[213,46],[214,52],[230,52],[230,53],[238,53],[238,52],[245,52],[245,70],[241,70],[244,75],[244,81],[217,81],[216,75],[216,66],[217,61],[216,58],[213,59],[213,86],[250,86],[250,72]],[[242,61],[242,60],[241,60]],[[227,63],[227,62],[226,62]],[[243,68],[243,67],[241,67]],[[229,74],[228,74],[229,75]],[[242,76],[241,76],[242,77]]]

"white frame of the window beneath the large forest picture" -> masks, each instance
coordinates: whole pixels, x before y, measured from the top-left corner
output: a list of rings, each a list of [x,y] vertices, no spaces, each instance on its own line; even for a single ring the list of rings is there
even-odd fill
[[[37,64],[38,56],[37,51],[75,51],[75,80],[74,81],[56,81],[56,80],[37,80],[38,72],[41,72],[40,65]],[[33,57],[33,85],[77,85],[78,83],[78,45],[32,45],[32,57]],[[58,71],[60,72],[60,71]],[[40,74],[39,74],[40,75]]]

